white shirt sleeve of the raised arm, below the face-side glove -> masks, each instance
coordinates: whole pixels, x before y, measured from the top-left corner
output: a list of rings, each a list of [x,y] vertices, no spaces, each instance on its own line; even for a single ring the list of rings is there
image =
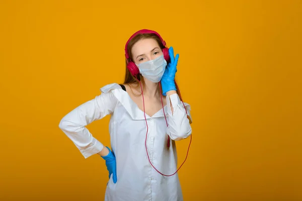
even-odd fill
[[[167,134],[172,140],[185,139],[192,133],[192,128],[190,125],[192,123],[192,117],[190,113],[191,107],[189,104],[183,104],[177,93],[170,95],[170,98],[167,95],[166,98],[169,115]],[[170,107],[171,105],[173,107],[173,113]]]

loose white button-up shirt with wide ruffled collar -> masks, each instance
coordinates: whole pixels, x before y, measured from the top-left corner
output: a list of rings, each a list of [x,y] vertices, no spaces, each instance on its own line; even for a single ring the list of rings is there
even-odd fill
[[[144,112],[133,102],[129,94],[117,83],[101,88],[102,93],[68,113],[59,128],[78,147],[85,158],[100,152],[104,145],[85,127],[93,121],[111,115],[109,132],[111,149],[116,157],[117,182],[111,177],[105,193],[105,201],[181,201],[182,190],[178,174],[163,176],[149,163],[146,149],[146,122]],[[145,114],[148,124],[147,150],[152,164],[163,174],[177,170],[176,138],[187,138],[192,129],[183,103],[177,93],[166,96],[163,109],[152,117]],[[184,103],[191,121],[190,105]],[[169,106],[169,107],[168,107]],[[167,149],[168,136],[173,140]]]

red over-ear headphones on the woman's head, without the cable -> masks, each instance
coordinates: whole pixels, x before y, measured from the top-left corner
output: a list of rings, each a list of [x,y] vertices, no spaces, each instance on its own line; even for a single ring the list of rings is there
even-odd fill
[[[135,37],[136,35],[138,34],[156,34],[162,41],[162,44],[165,46],[165,48],[162,49],[163,51],[163,54],[164,54],[164,58],[167,62],[169,62],[170,60],[170,56],[169,56],[169,50],[166,46],[166,42],[163,40],[163,38],[160,36],[159,33],[157,33],[156,31],[152,31],[152,30],[148,30],[148,29],[142,29],[142,30],[139,30],[137,32],[135,32],[130,38],[129,40],[127,41],[126,45],[125,45],[125,57],[126,57],[126,60],[127,60],[127,68],[128,70],[130,71],[131,75],[132,76],[136,76],[139,74],[139,69],[137,68],[137,66],[135,65],[135,63],[133,61],[131,61],[131,59],[129,58],[129,54],[127,52],[127,46],[128,46],[128,43],[129,41]]]

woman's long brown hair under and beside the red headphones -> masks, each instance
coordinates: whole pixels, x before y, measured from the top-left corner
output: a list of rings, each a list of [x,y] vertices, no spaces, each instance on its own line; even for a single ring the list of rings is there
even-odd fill
[[[136,36],[134,36],[128,43],[128,46],[127,46],[127,52],[129,54],[129,57],[130,57],[130,60],[133,61],[133,58],[132,58],[132,47],[133,45],[141,40],[141,39],[148,39],[148,38],[152,38],[152,39],[155,39],[157,41],[157,43],[159,44],[160,48],[161,49],[164,49],[165,46],[163,45],[161,39],[156,35],[156,34],[137,34]],[[139,85],[139,82],[137,81],[137,79],[141,82],[142,84],[142,89],[144,89],[144,86],[145,86],[145,82],[144,82],[144,79],[142,77],[142,75],[139,73],[136,77],[137,79],[130,73],[129,69],[127,68],[127,59],[125,60],[126,61],[126,73],[125,73],[125,79],[124,79],[124,84],[128,84],[129,87],[131,88],[130,84],[133,84],[134,86],[138,86]],[[175,84],[176,84],[176,81],[175,81]],[[177,84],[176,84],[177,86]],[[178,86],[177,86],[178,87]],[[132,90],[132,89],[131,89]],[[180,94],[179,94],[179,90],[177,89],[176,90],[177,94],[179,95],[180,99],[182,100]],[[135,94],[134,94],[135,95]],[[141,95],[138,94],[136,96],[139,96]]]

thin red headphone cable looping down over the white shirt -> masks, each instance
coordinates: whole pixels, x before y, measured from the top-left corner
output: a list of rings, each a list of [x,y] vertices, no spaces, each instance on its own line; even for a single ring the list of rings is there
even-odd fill
[[[144,108],[144,97],[143,97],[143,91],[142,91],[142,86],[141,86],[141,82],[137,79],[136,75],[134,75],[135,79],[139,82],[139,85],[140,85],[140,89],[141,89],[141,95],[142,95],[142,105],[143,105],[143,115],[144,115],[144,118],[145,118],[145,122],[146,122],[146,126],[147,126],[147,132],[146,132],[146,138],[145,138],[145,148],[146,148],[146,153],[147,153],[147,157],[148,157],[148,160],[149,160],[149,163],[150,165],[158,172],[160,173],[161,175],[163,176],[173,176],[174,174],[176,174],[176,172],[178,172],[178,170],[183,166],[183,164],[185,163],[185,161],[187,160],[188,158],[188,154],[189,154],[189,149],[190,149],[190,145],[191,145],[191,141],[192,141],[192,134],[190,135],[191,139],[190,139],[190,144],[189,144],[189,147],[188,147],[188,151],[187,151],[187,155],[186,155],[186,158],[184,160],[184,162],[179,166],[179,168],[173,173],[173,174],[170,174],[170,175],[167,175],[167,174],[163,174],[161,173],[159,170],[156,169],[156,167],[152,164],[150,158],[149,158],[149,154],[148,154],[148,149],[147,149],[147,134],[148,134],[148,123],[147,123],[147,119],[146,119],[146,115],[145,115],[145,108]],[[160,83],[161,84],[161,83]],[[176,84],[176,83],[175,83]],[[179,88],[176,84],[176,87],[177,87],[177,90],[179,91]],[[180,94],[180,91],[179,91],[179,94]],[[161,91],[161,97],[162,97],[162,91]],[[181,98],[181,96],[180,96]],[[163,100],[163,98],[161,98]],[[182,101],[182,99],[181,99]],[[183,101],[182,101],[183,103]],[[184,105],[184,103],[183,103]],[[163,105],[163,102],[162,102],[162,106]],[[185,105],[184,105],[185,106]],[[168,106],[170,107],[170,106]],[[163,110],[164,110],[164,107],[163,107]],[[185,107],[185,111],[187,113],[187,110],[186,110],[186,107]],[[165,110],[164,110],[164,115],[165,115]],[[187,113],[187,116],[188,116],[188,113]],[[165,119],[166,119],[166,115],[165,115]],[[167,126],[168,126],[168,122],[167,122],[167,119],[166,119],[166,123],[167,123]],[[169,136],[170,137],[170,136]],[[170,142],[170,141],[169,141]]]

